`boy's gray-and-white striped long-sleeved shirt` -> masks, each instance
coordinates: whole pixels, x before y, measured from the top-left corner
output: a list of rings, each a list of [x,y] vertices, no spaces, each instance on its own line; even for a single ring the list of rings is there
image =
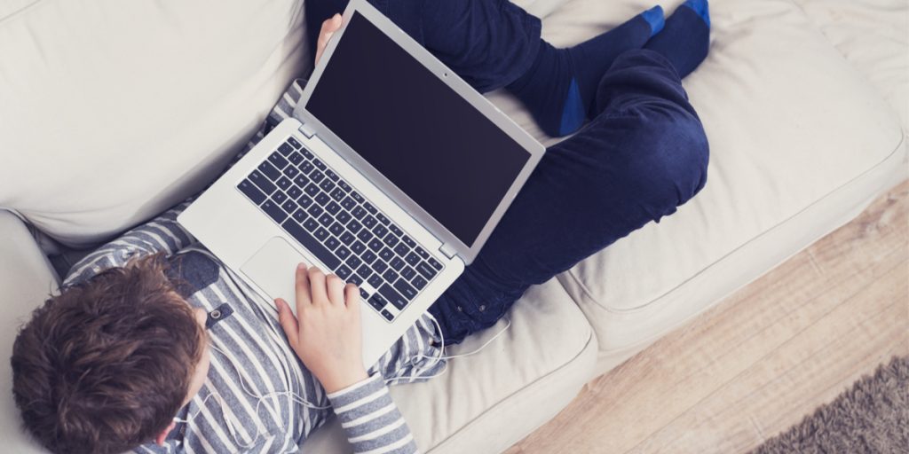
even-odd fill
[[[275,106],[270,123],[292,112],[299,94],[295,83]],[[261,137],[262,132],[245,152]],[[143,445],[135,452],[295,452],[332,410],[355,452],[416,452],[385,382],[426,380],[445,367],[444,360],[435,360],[440,340],[430,317],[424,314],[416,321],[369,370],[368,379],[326,394],[290,348],[274,304],[176,222],[191,200],[87,255],[61,286],[65,291],[107,268],[165,252],[172,279],[189,286],[181,289],[185,300],[208,311],[211,367],[202,390],[176,415],[186,422],[168,434],[164,446]]]

